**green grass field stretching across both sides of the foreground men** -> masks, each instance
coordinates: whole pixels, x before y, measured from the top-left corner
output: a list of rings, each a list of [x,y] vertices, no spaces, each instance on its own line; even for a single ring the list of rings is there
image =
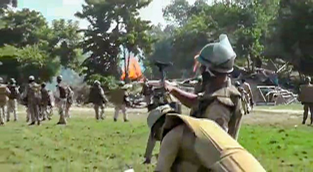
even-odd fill
[[[159,146],[152,165],[142,164],[149,134],[146,113],[132,111],[129,123],[122,122],[122,117],[113,122],[111,110],[99,122],[92,109],[74,109],[72,114],[67,126],[56,126],[55,115],[41,126],[29,127],[21,112],[19,122],[0,127],[0,171],[153,170]],[[245,123],[239,142],[267,171],[312,171],[312,132],[312,127],[292,123]]]

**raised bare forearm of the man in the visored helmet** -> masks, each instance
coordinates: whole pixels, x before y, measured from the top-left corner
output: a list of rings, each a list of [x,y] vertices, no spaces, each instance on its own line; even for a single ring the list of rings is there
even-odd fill
[[[198,101],[198,96],[196,94],[188,93],[176,87],[171,87],[169,92],[188,108],[192,108],[192,106]]]

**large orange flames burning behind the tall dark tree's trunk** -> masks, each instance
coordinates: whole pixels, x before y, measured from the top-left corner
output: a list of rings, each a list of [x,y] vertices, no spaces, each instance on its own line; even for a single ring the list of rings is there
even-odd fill
[[[127,66],[127,64],[126,64]],[[141,67],[136,60],[136,58],[131,57],[129,59],[129,68],[128,68],[128,78],[131,80],[139,80],[142,78],[142,72],[141,72]],[[123,70],[123,74],[121,76],[121,79],[125,79],[125,71]]]

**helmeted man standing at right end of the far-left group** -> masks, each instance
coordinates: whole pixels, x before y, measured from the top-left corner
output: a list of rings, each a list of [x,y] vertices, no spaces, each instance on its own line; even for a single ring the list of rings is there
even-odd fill
[[[63,77],[59,75],[57,77],[57,85],[56,85],[56,91],[54,93],[55,98],[55,104],[57,105],[59,109],[59,115],[60,119],[57,124],[67,124],[66,120],[66,109],[67,109],[67,100],[69,98],[69,93],[71,89],[68,85],[62,82]]]

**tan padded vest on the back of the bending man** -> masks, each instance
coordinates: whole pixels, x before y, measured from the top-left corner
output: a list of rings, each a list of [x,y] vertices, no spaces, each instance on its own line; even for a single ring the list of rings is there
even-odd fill
[[[203,167],[213,171],[265,171],[247,150],[212,120],[169,114],[163,136],[180,124],[186,124],[195,134],[193,148]]]

